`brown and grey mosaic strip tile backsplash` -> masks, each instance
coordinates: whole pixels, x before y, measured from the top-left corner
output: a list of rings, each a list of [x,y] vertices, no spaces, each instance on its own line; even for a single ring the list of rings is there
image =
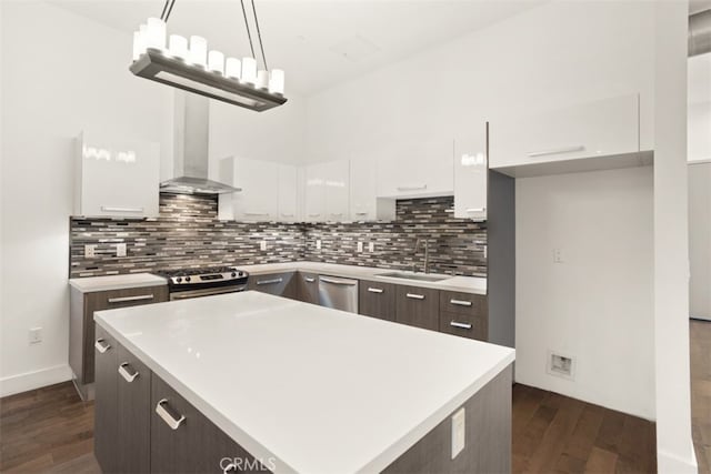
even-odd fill
[[[451,208],[451,196],[432,198],[398,201],[394,222],[247,223],[219,221],[214,196],[161,193],[158,219],[71,218],[69,273],[98,276],[296,260],[422,271],[423,249],[414,253],[421,238],[428,241],[430,272],[484,275],[485,224],[453,219],[445,212]],[[262,240],[267,251],[260,250]],[[357,252],[358,242],[363,252]],[[368,251],[370,242],[373,252]],[[116,256],[117,243],[127,244],[127,256]],[[92,259],[84,258],[87,244],[97,245]]]

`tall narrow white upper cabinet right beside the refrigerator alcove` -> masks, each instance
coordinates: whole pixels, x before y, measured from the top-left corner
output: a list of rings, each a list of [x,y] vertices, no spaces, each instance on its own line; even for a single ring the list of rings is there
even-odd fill
[[[487,219],[487,124],[454,139],[454,216]]]

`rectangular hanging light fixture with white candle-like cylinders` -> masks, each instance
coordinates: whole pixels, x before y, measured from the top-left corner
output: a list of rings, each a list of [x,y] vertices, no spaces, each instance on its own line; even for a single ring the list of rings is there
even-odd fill
[[[240,3],[251,57],[241,61],[237,58],[226,60],[222,52],[208,50],[207,40],[198,36],[190,37],[188,41],[184,37],[171,34],[166,44],[166,26],[176,4],[176,0],[166,0],[161,17],[149,18],[133,33],[133,63],[129,69],[134,75],[258,112],[282,105],[287,102],[284,71],[270,70],[267,65],[257,9],[254,0],[251,0],[264,67],[258,69],[244,0]]]

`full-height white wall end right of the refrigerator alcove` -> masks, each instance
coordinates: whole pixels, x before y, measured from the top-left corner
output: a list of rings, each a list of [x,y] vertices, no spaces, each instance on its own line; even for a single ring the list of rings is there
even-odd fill
[[[654,2],[654,364],[657,465],[695,473],[689,380],[688,2]]]

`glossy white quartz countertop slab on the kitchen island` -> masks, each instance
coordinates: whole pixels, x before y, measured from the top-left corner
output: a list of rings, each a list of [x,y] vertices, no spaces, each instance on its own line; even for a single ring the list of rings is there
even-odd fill
[[[276,472],[379,472],[514,360],[509,347],[254,291],[94,319]]]

